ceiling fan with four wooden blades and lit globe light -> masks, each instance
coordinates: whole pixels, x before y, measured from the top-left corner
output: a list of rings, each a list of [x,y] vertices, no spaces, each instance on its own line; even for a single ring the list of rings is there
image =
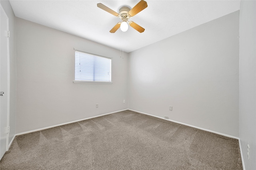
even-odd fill
[[[119,10],[119,14],[113,10],[111,10],[110,8],[106,7],[105,5],[99,3],[97,4],[97,6],[99,8],[101,8],[102,10],[105,10],[106,12],[109,12],[110,14],[121,18],[122,21],[118,22],[111,30],[110,33],[115,33],[116,30],[118,30],[118,28],[120,27],[120,29],[122,31],[127,31],[128,30],[128,24],[133,27],[134,29],[136,29],[137,31],[139,31],[140,33],[144,32],[144,28],[142,28],[140,25],[138,25],[137,23],[133,22],[133,21],[128,21],[129,18],[135,16],[136,14],[138,14],[139,12],[141,12],[142,10],[144,10],[145,8],[148,7],[148,4],[146,1],[141,0],[138,4],[136,4],[132,9],[128,8],[127,6],[123,6],[120,8]],[[127,23],[128,22],[128,23]]]

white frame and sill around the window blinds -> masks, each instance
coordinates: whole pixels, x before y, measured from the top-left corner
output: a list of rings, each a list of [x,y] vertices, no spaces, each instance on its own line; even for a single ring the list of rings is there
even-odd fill
[[[78,53],[84,53],[86,55],[91,55],[93,57],[100,57],[100,58],[106,58],[106,59],[110,59],[110,81],[90,81],[90,80],[76,80],[76,52]],[[109,57],[104,57],[101,55],[96,55],[96,54],[92,54],[92,53],[87,53],[84,51],[79,51],[79,50],[75,50],[75,61],[74,61],[74,81],[73,83],[87,83],[87,84],[112,84],[112,58]]]

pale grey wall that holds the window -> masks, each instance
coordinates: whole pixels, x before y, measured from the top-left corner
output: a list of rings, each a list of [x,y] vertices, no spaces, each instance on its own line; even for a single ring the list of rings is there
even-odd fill
[[[16,133],[128,108],[127,53],[20,18],[16,30]],[[74,84],[73,48],[111,57],[113,84]]]

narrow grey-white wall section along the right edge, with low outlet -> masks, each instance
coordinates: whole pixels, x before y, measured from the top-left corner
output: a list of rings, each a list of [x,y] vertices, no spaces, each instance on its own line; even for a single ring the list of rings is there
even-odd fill
[[[240,5],[239,137],[246,170],[256,169],[256,1]],[[250,159],[247,145],[250,146]]]

